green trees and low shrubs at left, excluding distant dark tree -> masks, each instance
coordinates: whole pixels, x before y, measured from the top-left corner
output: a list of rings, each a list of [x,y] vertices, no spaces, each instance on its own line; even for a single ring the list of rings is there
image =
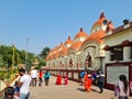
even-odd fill
[[[7,70],[9,68],[8,75],[7,73],[0,74],[0,77],[9,77],[11,75],[11,67],[12,67],[12,59],[14,56],[14,66],[19,64],[25,64],[25,54],[26,54],[26,62],[28,65],[32,65],[35,59],[35,55],[33,53],[28,53],[24,50],[20,51],[16,47],[0,45],[0,68]],[[16,73],[14,69],[13,73]]]

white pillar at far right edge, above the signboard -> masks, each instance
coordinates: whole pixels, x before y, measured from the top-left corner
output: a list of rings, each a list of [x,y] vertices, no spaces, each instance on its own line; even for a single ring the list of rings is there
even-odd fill
[[[123,61],[128,61],[131,58],[131,47],[124,46],[123,47]]]

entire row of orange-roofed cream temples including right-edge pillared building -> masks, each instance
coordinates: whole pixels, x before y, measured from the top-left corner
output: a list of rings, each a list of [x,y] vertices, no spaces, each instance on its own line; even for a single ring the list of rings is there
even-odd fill
[[[54,69],[106,69],[107,63],[132,61],[132,22],[116,28],[101,12],[90,33],[82,28],[51,50],[46,66]]]

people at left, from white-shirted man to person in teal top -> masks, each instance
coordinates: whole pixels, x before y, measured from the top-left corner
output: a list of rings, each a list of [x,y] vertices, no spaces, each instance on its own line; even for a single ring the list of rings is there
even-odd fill
[[[35,87],[36,84],[42,86],[43,79],[45,80],[45,86],[48,86],[50,80],[50,72],[46,70],[45,74],[35,68],[33,68],[29,74],[25,72],[24,68],[19,69],[20,79],[15,81],[14,87],[8,87],[4,92],[3,99],[29,99],[30,96],[30,87]],[[38,82],[37,82],[38,80]]]

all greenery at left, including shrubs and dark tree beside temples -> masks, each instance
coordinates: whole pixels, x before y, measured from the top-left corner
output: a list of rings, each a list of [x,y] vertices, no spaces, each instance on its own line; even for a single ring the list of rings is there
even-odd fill
[[[0,45],[0,68],[6,72],[0,73],[0,78],[10,78],[12,61],[13,65],[18,66],[18,64],[25,64],[25,55],[26,55],[26,66],[30,68],[33,65],[35,59],[38,61],[38,65],[36,66],[38,69],[41,66],[45,66],[45,57],[50,53],[50,47],[44,47],[40,55],[35,55],[33,53],[25,52],[24,50],[20,51],[16,47]],[[7,72],[9,69],[9,72]],[[13,70],[16,73],[16,69]]]

